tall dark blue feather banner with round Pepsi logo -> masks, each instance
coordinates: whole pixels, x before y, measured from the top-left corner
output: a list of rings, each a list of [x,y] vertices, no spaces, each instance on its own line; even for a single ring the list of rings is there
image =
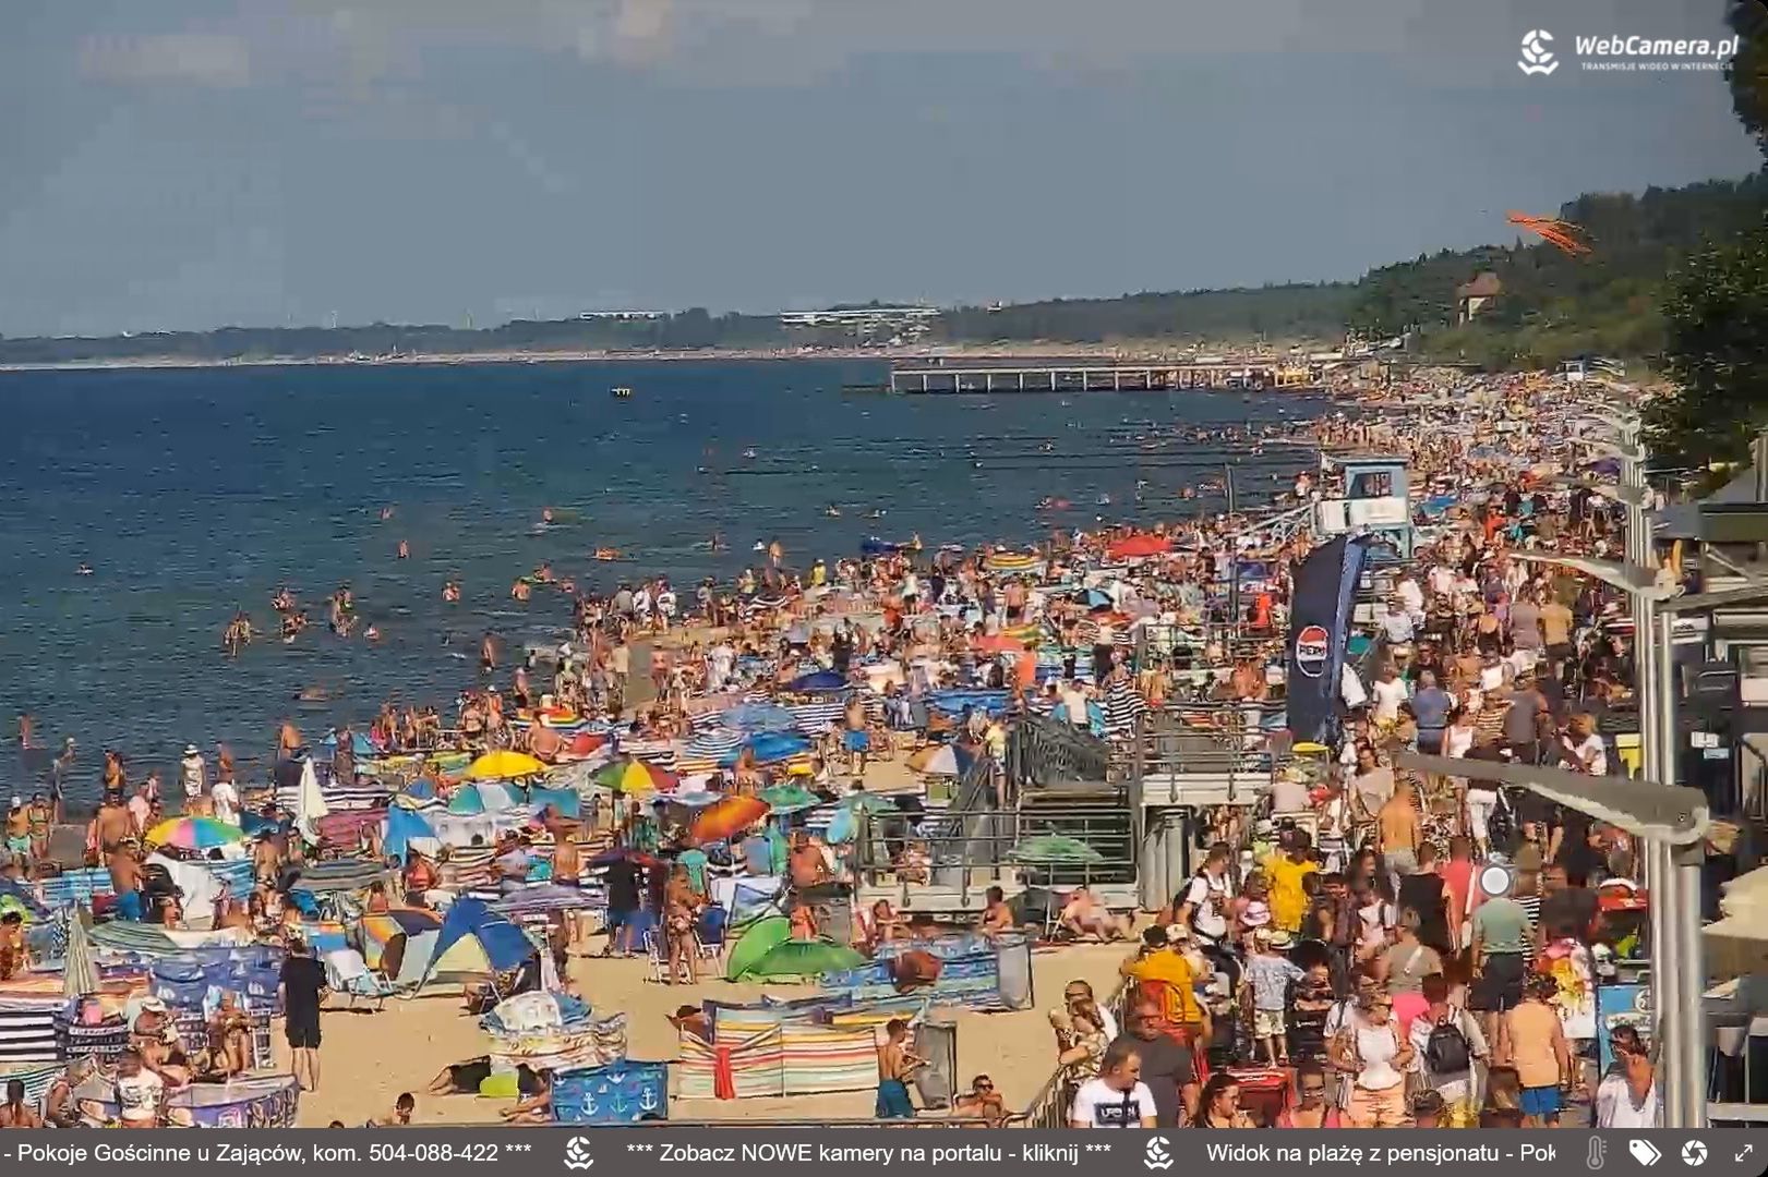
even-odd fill
[[[1296,569],[1287,677],[1289,730],[1296,742],[1338,742],[1338,680],[1351,636],[1356,581],[1367,558],[1367,541],[1338,535],[1315,548]]]

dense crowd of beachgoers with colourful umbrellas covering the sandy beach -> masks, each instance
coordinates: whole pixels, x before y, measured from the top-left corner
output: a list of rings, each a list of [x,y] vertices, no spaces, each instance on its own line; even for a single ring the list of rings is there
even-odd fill
[[[735,933],[721,880],[773,880],[769,910],[790,940],[886,958],[902,993],[937,983],[934,945],[955,931],[1027,937],[1038,951],[1123,942],[1117,993],[1073,983],[1050,1013],[1052,1090],[1075,1128],[1657,1124],[1650,1043],[1632,1027],[1598,1032],[1595,1011],[1597,984],[1641,951],[1637,847],[1480,774],[1499,762],[1625,771],[1612,739],[1634,691],[1625,603],[1517,558],[1614,555],[1623,513],[1589,486],[1563,382],[1489,380],[1446,403],[1453,380],[1420,376],[1312,422],[1328,459],[1259,513],[1139,528],[1052,516],[1040,544],[872,541],[804,566],[774,543],[734,583],[681,594],[667,576],[592,594],[536,567],[513,599],[568,594],[573,633],[522,650],[486,634],[481,673],[453,707],[387,700],[361,732],[339,725],[318,742],[283,723],[258,781],[240,779],[226,748],[186,748],[171,786],[108,751],[85,839],[103,878],[71,915],[48,910],[53,880],[81,866],[50,852],[62,772],[18,797],[0,983],[71,968],[65,935],[28,937],[30,924],[271,945],[293,1076],[315,1089],[322,1002],[364,984],[329,968],[320,924],[428,928],[479,898],[580,891],[582,903],[553,896],[525,923],[532,961],[467,986],[484,1013],[522,990],[592,997],[569,965],[601,933],[601,954],[649,954],[658,981],[702,986]],[[1308,507],[1344,493],[1330,456],[1345,451],[1407,463],[1416,546],[1376,580],[1358,626],[1367,656],[1344,684],[1342,740],[1298,744],[1268,721],[1284,707],[1296,569],[1321,539]],[[276,610],[285,636],[299,633],[292,590]],[[347,588],[327,615],[348,636]],[[249,640],[235,619],[228,645]],[[1197,869],[1158,912],[1114,908],[1084,882],[1043,912],[1018,887],[990,887],[983,910],[956,921],[859,901],[868,882],[919,882],[939,866],[951,802],[932,779],[958,781],[941,797],[967,785],[981,808],[1013,808],[1025,783],[1002,765],[1029,716],[1075,728],[1116,765],[1146,719],[1174,716],[1261,765],[1264,786],[1199,809]],[[1402,751],[1466,772],[1407,772]],[[520,820],[398,834],[391,815],[472,816],[458,799],[492,797],[488,785],[522,792]],[[302,885],[338,861],[364,868],[359,887],[316,898]],[[242,868],[193,912],[191,871],[214,862]],[[1487,866],[1505,868],[1501,892],[1482,882]],[[366,984],[391,991],[403,968],[382,953],[373,972]],[[94,974],[71,1000],[108,983]],[[19,1083],[0,1126],[168,1122],[175,1092],[263,1071],[248,1004],[221,991],[189,1027],[136,997],[118,1055],[71,1064],[37,1099]],[[695,1011],[677,1014],[686,1029]],[[918,1115],[911,1080],[930,1064],[907,1036],[907,1021],[880,1034],[884,1119]],[[492,1071],[470,1060],[414,1087],[477,1092]],[[557,1071],[507,1073],[506,1119],[550,1119]],[[407,1094],[378,1122],[408,1122],[412,1106]],[[1018,1115],[988,1074],[946,1112],[981,1126]]]

